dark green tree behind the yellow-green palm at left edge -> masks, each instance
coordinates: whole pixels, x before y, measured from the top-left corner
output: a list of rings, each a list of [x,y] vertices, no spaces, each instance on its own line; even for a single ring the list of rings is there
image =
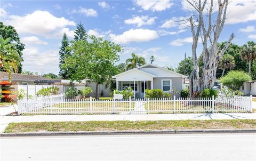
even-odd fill
[[[13,26],[5,26],[3,22],[0,22],[0,33],[3,39],[11,38],[10,43],[15,43],[14,46],[11,47],[12,50],[15,50],[19,55],[20,62],[23,61],[22,59],[22,51],[25,49],[25,44],[20,42],[20,37],[17,31]],[[17,59],[18,60],[18,59]],[[22,71],[21,63],[18,64],[18,73]]]

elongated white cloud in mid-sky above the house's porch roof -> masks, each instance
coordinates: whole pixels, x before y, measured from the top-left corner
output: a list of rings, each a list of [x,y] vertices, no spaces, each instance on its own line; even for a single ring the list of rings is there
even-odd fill
[[[126,44],[130,42],[148,42],[159,36],[155,30],[130,29],[121,35],[109,34],[109,37],[116,43]]]

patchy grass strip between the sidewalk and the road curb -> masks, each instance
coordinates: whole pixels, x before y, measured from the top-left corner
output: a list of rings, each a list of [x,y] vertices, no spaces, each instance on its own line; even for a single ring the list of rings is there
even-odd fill
[[[10,123],[4,133],[131,130],[256,129],[255,119]]]

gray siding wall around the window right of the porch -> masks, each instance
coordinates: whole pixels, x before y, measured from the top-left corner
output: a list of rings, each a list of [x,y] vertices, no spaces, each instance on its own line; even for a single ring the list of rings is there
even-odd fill
[[[182,90],[182,78],[181,77],[157,77],[153,79],[153,88],[161,89],[162,90],[162,79],[171,79],[172,80],[172,86],[176,88],[178,92]],[[180,96],[180,94],[177,94],[176,96]]]

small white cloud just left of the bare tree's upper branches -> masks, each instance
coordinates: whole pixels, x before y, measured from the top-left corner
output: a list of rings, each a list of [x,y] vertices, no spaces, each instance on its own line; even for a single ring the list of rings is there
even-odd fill
[[[161,28],[173,28],[178,27],[180,29],[186,28],[190,25],[187,17],[173,17],[169,20],[165,20]]]

